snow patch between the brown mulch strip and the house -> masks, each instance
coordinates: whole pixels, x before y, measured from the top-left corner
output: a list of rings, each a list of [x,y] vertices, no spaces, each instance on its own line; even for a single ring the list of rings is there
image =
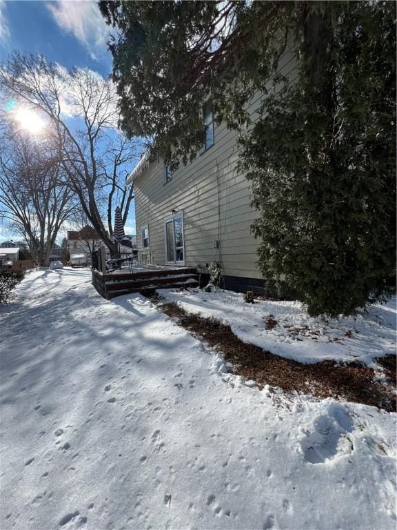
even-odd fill
[[[256,301],[247,304],[243,295],[232,291],[205,293],[159,290],[185,311],[215,317],[229,324],[244,342],[252,342],[275,355],[298,362],[358,360],[376,368],[374,357],[396,353],[396,297],[384,305],[369,308],[355,317],[323,320],[309,317],[299,302]],[[277,325],[267,330],[266,320]],[[351,335],[351,336],[349,336]]]

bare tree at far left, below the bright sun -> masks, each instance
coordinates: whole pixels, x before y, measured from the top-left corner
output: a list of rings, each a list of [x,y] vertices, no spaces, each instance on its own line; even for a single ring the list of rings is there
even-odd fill
[[[75,207],[57,151],[12,130],[1,137],[0,215],[21,235],[40,264]]]

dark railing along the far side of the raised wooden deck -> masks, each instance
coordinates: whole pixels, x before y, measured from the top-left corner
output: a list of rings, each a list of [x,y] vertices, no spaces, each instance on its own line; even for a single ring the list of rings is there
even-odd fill
[[[133,249],[131,252],[110,253],[105,248],[92,253],[92,269],[101,273],[113,272],[122,268],[132,271],[137,265],[152,265],[150,251]]]

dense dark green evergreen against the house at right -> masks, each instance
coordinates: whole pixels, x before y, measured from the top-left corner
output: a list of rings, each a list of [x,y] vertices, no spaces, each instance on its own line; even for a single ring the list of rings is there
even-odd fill
[[[326,46],[302,35],[298,82],[265,97],[241,164],[263,275],[313,315],[378,299],[395,263],[395,4],[337,8],[312,12]]]

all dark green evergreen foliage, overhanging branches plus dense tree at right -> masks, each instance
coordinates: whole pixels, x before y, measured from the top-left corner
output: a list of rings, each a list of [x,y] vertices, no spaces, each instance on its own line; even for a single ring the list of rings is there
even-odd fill
[[[176,165],[203,144],[207,97],[241,133],[259,266],[309,313],[349,314],[394,275],[394,2],[100,2],[121,126]],[[292,45],[293,83],[278,75]],[[277,90],[273,90],[274,87]],[[263,92],[249,128],[245,104]]]

